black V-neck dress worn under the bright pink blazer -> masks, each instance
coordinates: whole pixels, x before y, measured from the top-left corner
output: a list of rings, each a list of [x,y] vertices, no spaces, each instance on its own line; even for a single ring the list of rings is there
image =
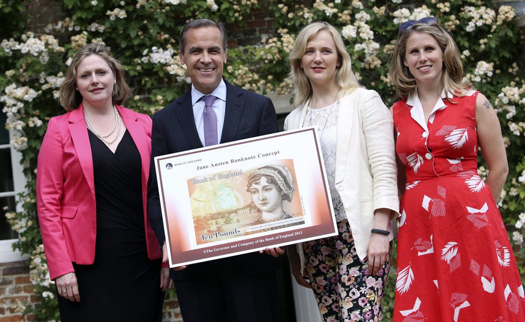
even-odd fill
[[[139,150],[128,131],[114,154],[88,133],[97,202],[95,263],[73,264],[80,302],[58,296],[60,318],[161,321],[161,260],[151,261],[146,250]]]

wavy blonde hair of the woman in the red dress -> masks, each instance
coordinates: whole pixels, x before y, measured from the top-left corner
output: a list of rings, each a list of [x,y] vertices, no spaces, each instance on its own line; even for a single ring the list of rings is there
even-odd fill
[[[445,92],[457,97],[465,96],[472,85],[463,78],[463,64],[461,63],[459,49],[450,34],[436,22],[434,25],[414,24],[410,29],[400,31],[397,36],[390,66],[390,79],[396,87],[398,98],[407,100],[416,90],[416,80],[408,67],[403,64],[406,41],[414,33],[424,33],[434,37],[443,51],[443,74],[439,91],[445,90]],[[445,96],[445,99],[454,103],[448,96]]]

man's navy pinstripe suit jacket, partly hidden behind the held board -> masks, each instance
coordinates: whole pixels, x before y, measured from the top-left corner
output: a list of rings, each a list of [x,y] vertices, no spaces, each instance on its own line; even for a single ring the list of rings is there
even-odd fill
[[[267,97],[241,89],[226,80],[226,111],[220,143],[253,138],[278,132],[277,117],[271,100]],[[191,101],[191,89],[153,117],[151,138],[151,169],[148,188],[148,215],[159,243],[165,240],[159,190],[153,158],[159,155],[202,148]],[[173,279],[198,278],[214,265],[232,265],[232,270],[242,269],[246,273],[264,273],[279,267],[277,258],[258,252],[191,264],[182,271],[170,271]]]

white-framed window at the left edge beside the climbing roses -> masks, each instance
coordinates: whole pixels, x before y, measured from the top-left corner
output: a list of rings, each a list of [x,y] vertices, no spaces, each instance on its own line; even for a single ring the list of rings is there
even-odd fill
[[[0,124],[5,124],[6,116],[0,112]],[[0,263],[17,262],[27,259],[20,252],[13,251],[13,243],[18,233],[11,229],[5,217],[6,211],[20,211],[16,195],[23,191],[26,179],[20,160],[22,155],[9,144],[13,133],[0,127]],[[7,209],[7,210],[4,210]]]

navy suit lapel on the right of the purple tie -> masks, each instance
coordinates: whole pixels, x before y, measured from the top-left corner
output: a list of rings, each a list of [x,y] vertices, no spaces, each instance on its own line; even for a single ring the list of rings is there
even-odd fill
[[[226,83],[226,112],[220,143],[234,140],[245,105],[245,100],[242,98],[243,93],[226,80],[224,82]]]

